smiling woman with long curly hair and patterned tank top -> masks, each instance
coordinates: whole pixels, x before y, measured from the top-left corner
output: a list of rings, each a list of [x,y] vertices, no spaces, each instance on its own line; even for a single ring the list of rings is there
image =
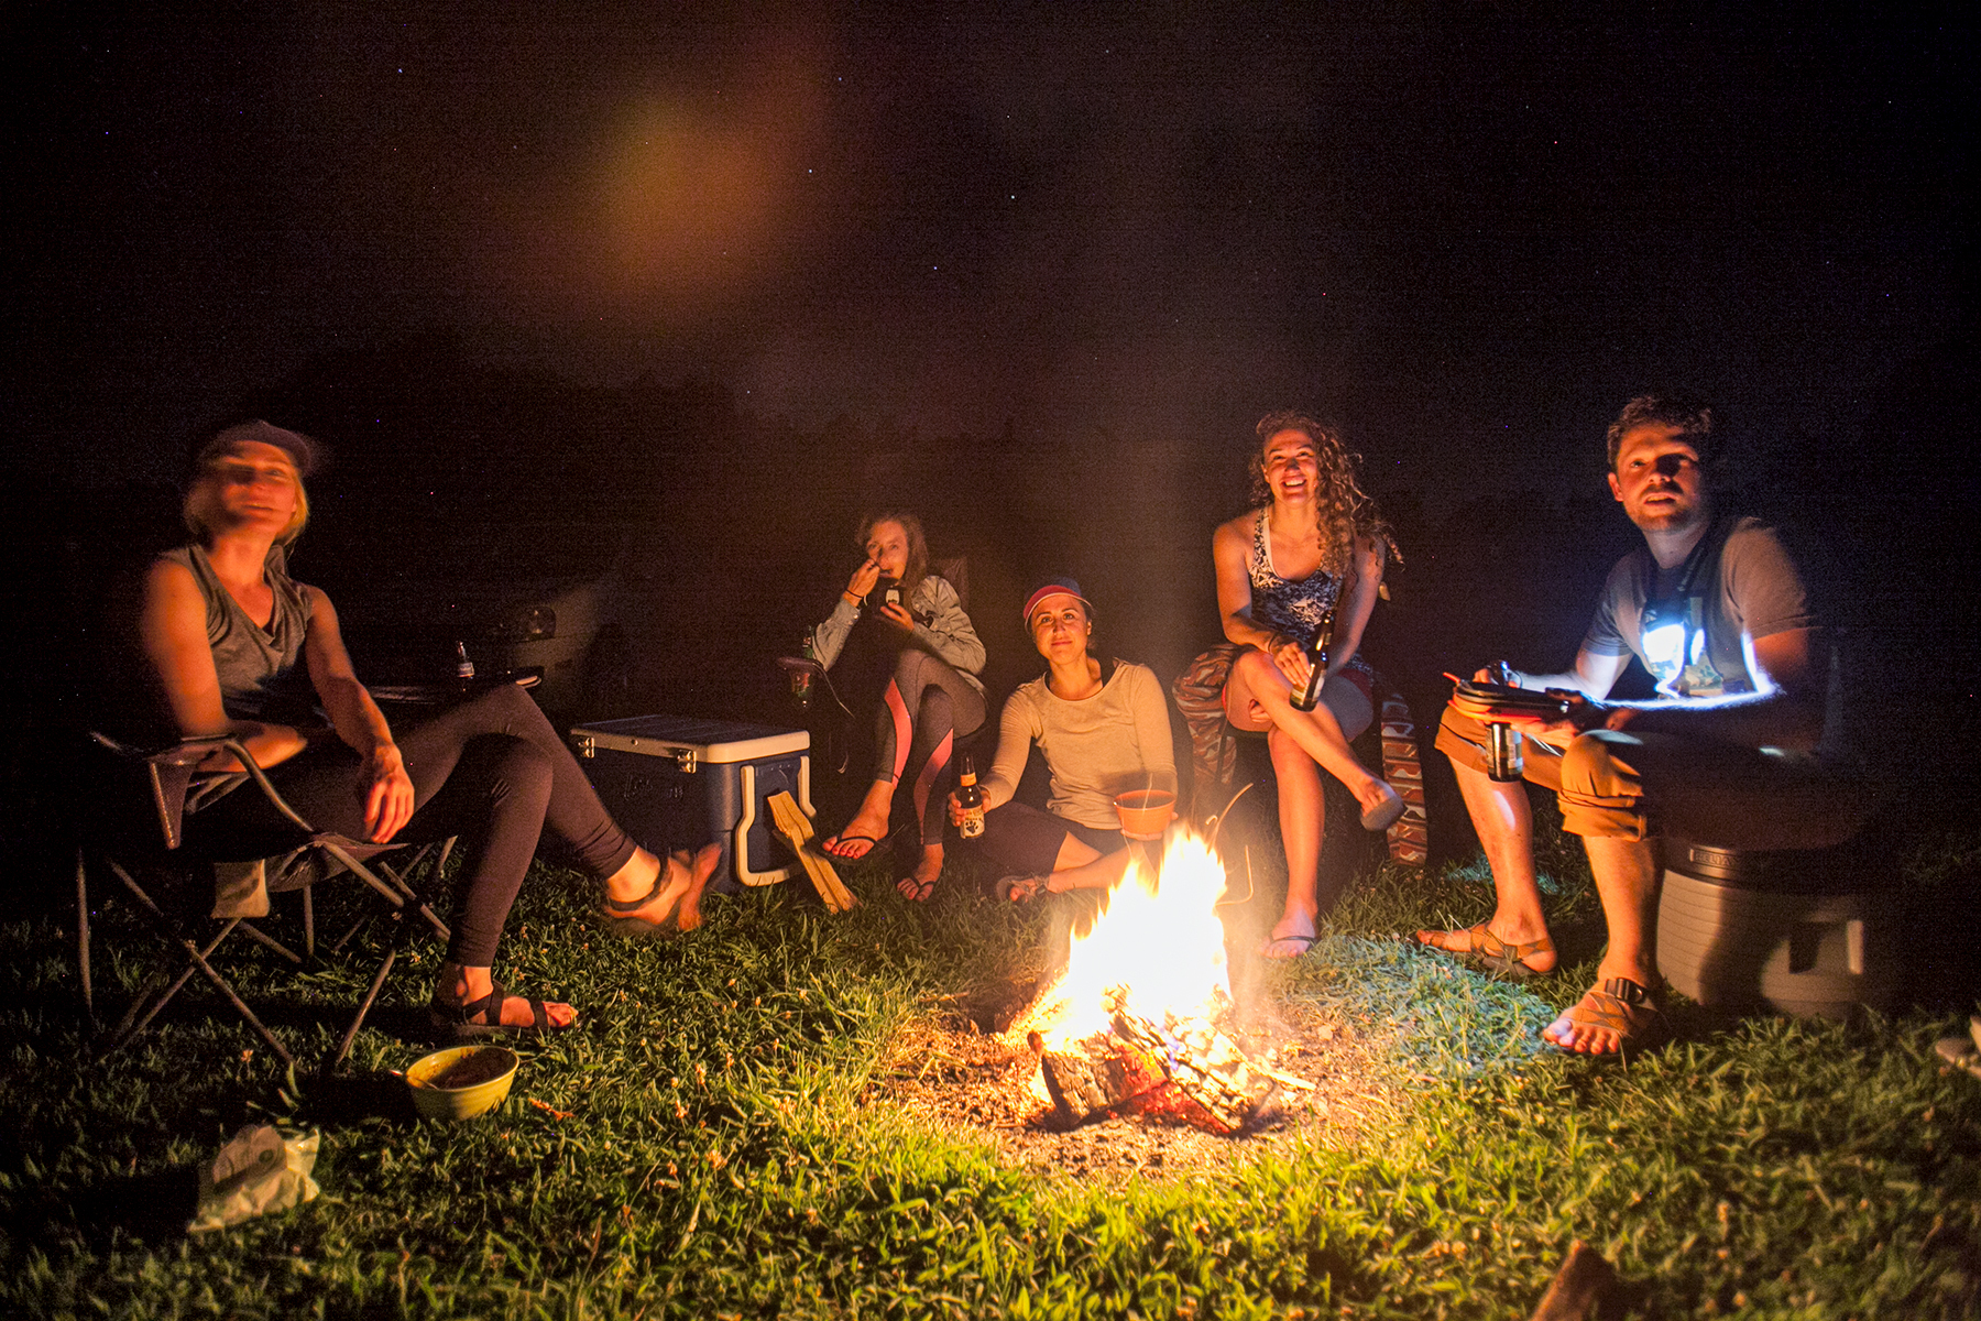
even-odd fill
[[[1224,717],[1264,733],[1272,751],[1288,883],[1286,913],[1262,953],[1294,959],[1315,937],[1321,770],[1355,794],[1363,830],[1389,830],[1403,816],[1397,790],[1349,749],[1375,715],[1371,671],[1357,650],[1395,547],[1333,428],[1294,412],[1270,414],[1258,424],[1248,467],[1262,505],[1218,527],[1210,541],[1224,636],[1240,648],[1224,683]],[[1321,699],[1300,711],[1292,697],[1311,673],[1305,648],[1329,614]]]

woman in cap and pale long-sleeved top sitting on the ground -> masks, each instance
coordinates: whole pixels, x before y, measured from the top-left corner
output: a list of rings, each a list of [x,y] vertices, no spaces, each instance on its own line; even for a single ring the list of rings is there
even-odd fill
[[[998,889],[1014,901],[1119,881],[1127,850],[1115,794],[1177,792],[1163,685],[1147,665],[1088,654],[1094,608],[1080,584],[1042,582],[1024,604],[1024,626],[1046,658],[1046,673],[1018,685],[1004,703],[996,759],[983,780],[989,812],[979,840],[1008,873]],[[1052,772],[1044,812],[1010,800],[1034,743]],[[959,812],[951,794],[951,820]]]

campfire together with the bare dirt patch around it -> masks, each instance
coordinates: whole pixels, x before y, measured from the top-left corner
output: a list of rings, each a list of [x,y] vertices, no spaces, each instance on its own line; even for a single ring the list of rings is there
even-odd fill
[[[917,1020],[870,1091],[1062,1170],[1191,1170],[1353,1139],[1385,1103],[1361,1034],[1260,990],[1236,1000],[1222,895],[1212,850],[1173,832],[1072,937],[1060,976]]]

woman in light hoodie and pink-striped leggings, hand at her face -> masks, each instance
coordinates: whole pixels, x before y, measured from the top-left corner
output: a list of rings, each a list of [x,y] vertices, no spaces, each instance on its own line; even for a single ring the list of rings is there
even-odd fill
[[[876,711],[874,780],[846,828],[826,840],[834,858],[866,858],[887,838],[895,786],[913,776],[915,822],[921,852],[897,881],[909,899],[925,901],[943,873],[943,816],[929,810],[941,800],[957,739],[985,723],[985,644],[963,612],[963,602],[939,574],[929,572],[929,543],[911,513],[876,513],[860,521],[854,539],[866,559],[854,568],[832,616],[812,630],[812,650],[826,669],[840,660],[860,620],[868,594],[884,578],[901,584],[901,600],[874,610],[870,638],[891,652],[891,671]]]

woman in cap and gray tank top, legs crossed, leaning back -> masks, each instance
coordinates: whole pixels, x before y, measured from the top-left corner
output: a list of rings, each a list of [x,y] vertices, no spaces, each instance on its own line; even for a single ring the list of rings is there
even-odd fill
[[[184,503],[194,541],[153,562],[139,616],[164,709],[180,737],[238,739],[317,830],[372,844],[462,838],[462,901],[430,1006],[436,1032],[571,1028],[569,1004],[509,996],[491,976],[543,828],[604,877],[606,919],[626,935],[699,925],[721,850],[664,864],[638,848],[513,683],[396,737],[351,669],[329,598],[289,578],[285,551],[309,519],[307,469],[309,442],[267,422],[230,426],[200,448]],[[228,792],[246,778],[232,755],[216,753],[202,770],[202,828],[283,830],[261,794]]]

